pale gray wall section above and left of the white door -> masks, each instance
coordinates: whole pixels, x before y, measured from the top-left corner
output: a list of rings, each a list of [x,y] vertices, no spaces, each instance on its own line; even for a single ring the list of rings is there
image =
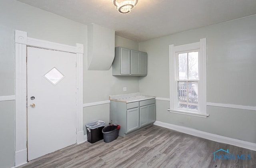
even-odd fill
[[[16,0],[2,0],[0,11],[0,96],[15,94],[15,29],[28,32],[32,38],[68,45],[86,42],[86,25]],[[0,115],[0,167],[10,168],[15,156],[15,101],[0,102]]]

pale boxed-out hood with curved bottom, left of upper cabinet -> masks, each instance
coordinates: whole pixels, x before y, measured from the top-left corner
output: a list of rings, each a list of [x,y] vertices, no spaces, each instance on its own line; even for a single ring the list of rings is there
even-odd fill
[[[87,69],[105,71],[115,57],[115,31],[88,25]]]

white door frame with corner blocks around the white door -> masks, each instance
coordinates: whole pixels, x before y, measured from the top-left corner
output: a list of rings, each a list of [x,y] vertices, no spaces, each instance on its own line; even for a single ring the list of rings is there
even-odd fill
[[[15,167],[27,163],[27,46],[76,53],[76,143],[84,142],[83,130],[83,54],[84,45],[64,45],[29,38],[15,30]]]

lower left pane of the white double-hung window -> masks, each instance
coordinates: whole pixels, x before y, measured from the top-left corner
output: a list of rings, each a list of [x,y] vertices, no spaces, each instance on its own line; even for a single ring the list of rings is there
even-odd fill
[[[187,82],[178,82],[178,108],[187,109]]]

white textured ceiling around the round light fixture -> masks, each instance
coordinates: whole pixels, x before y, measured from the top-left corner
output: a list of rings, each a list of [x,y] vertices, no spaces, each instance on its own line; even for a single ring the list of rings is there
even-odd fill
[[[120,14],[112,0],[18,0],[137,42],[256,14],[256,0],[139,0]]]

